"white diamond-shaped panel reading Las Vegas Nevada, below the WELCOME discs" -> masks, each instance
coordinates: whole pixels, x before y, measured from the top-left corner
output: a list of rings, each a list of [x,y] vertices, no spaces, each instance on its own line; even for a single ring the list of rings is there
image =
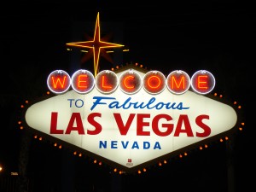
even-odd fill
[[[139,73],[142,77],[144,73]],[[32,104],[26,124],[126,171],[230,131],[234,108],[188,90],[126,94],[74,90]]]

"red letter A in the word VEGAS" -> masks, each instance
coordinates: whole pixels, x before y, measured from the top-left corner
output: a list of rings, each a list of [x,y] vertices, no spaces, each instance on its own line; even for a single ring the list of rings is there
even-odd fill
[[[185,127],[184,130],[182,130],[183,123]],[[177,119],[177,127],[174,133],[174,137],[178,137],[181,132],[187,133],[188,137],[193,137],[191,125],[189,124],[189,118],[188,118],[188,115],[186,114],[181,114]]]

